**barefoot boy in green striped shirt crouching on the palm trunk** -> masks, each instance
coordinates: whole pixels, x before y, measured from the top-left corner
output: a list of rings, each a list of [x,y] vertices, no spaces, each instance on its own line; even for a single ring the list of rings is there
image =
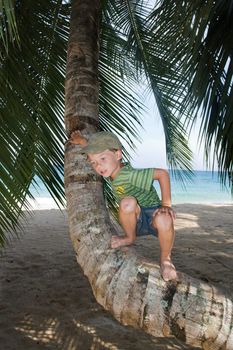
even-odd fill
[[[124,237],[112,236],[111,248],[130,245],[137,235],[149,233],[158,236],[161,275],[165,281],[176,279],[176,269],[171,261],[175,212],[171,207],[168,172],[164,169],[133,169],[130,164],[123,164],[122,145],[110,132],[97,132],[87,142],[79,131],[74,131],[69,142],[81,145],[92,168],[110,179],[119,203],[119,221],[125,232]],[[153,187],[154,180],[159,181],[161,201]]]

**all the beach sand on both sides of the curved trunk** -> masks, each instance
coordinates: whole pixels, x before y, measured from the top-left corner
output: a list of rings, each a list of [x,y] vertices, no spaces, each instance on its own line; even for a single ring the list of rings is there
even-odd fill
[[[177,205],[177,269],[231,293],[233,207]],[[157,261],[158,241],[136,249]],[[65,211],[34,211],[0,256],[0,350],[193,349],[121,326],[98,305],[76,263]]]

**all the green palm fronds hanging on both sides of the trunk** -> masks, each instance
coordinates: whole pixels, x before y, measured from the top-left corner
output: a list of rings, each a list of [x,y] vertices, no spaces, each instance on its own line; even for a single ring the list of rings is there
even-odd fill
[[[132,145],[140,126],[140,80],[159,107],[171,169],[191,169],[186,131],[199,113],[207,161],[212,145],[226,182],[227,175],[232,178],[233,154],[230,3],[149,5],[101,2],[99,128],[116,131]],[[4,0],[0,6],[3,244],[3,232],[17,225],[22,206],[28,208],[35,175],[57,203],[64,203],[63,82],[70,3],[17,1],[14,8]]]

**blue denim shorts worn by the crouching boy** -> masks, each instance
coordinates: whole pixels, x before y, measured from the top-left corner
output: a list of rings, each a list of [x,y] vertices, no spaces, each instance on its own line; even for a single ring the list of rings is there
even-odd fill
[[[137,220],[136,232],[137,236],[153,235],[158,236],[158,232],[152,227],[152,215],[156,209],[160,208],[160,205],[153,207],[141,207],[141,212]]]

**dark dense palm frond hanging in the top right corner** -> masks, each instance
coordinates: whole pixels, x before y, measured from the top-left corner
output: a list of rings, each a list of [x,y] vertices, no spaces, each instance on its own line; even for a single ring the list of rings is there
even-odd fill
[[[214,145],[223,182],[233,170],[233,8],[229,1],[160,1],[151,15],[155,41],[180,75],[186,125],[201,116],[207,164]],[[191,116],[191,117],[190,117]],[[187,129],[187,126],[186,126]]]

